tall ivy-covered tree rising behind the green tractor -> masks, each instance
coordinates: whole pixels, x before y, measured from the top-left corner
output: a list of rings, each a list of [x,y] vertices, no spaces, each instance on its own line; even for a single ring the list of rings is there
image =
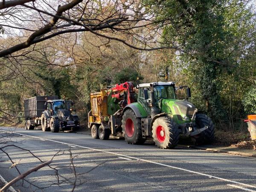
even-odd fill
[[[220,74],[231,72],[248,49],[253,49],[252,44],[239,42],[243,40],[244,32],[249,32],[249,25],[240,28],[236,25],[241,21],[251,23],[252,9],[237,0],[167,0],[157,5],[150,0],[146,2],[152,3],[151,9],[157,12],[157,20],[165,22],[180,10],[186,10],[182,17],[164,27],[163,44],[179,45],[184,50],[180,53],[179,63],[181,66],[186,63],[183,71],[189,76],[189,84],[197,90],[195,94],[202,96],[203,105],[215,122],[225,119],[227,111],[221,100],[218,79]],[[231,9],[241,12],[232,13]]]

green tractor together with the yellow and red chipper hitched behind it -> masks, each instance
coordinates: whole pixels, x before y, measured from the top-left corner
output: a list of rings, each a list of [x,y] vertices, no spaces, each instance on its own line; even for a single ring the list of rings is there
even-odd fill
[[[176,90],[184,87],[174,82],[139,84],[137,102],[131,82],[91,93],[88,127],[92,137],[107,140],[119,132],[129,144],[143,144],[153,137],[159,148],[174,148],[180,137],[197,144],[212,142],[211,119],[187,100],[177,99]],[[186,93],[189,98],[189,87]]]

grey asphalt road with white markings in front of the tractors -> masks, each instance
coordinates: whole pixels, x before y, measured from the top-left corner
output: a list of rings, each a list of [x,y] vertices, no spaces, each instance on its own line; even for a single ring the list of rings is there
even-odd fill
[[[186,148],[159,149],[155,145],[128,145],[124,140],[94,140],[90,135],[51,133],[41,130],[0,127],[0,134],[15,132],[15,145],[26,148],[42,160],[50,160],[59,150],[64,154],[53,159],[59,169],[60,180],[70,181],[55,185],[55,172],[44,167],[29,175],[39,191],[71,191],[73,169],[70,149],[76,167],[76,191],[254,191],[256,192],[256,158],[212,153]],[[21,172],[40,162],[28,151],[9,147],[10,154]],[[1,154],[1,161],[6,157]],[[17,172],[0,163],[0,175],[11,180]],[[19,183],[20,184],[20,183]],[[24,187],[23,187],[24,186]],[[24,183],[14,186],[20,191],[34,191],[35,186]],[[26,188],[25,188],[26,187]]]

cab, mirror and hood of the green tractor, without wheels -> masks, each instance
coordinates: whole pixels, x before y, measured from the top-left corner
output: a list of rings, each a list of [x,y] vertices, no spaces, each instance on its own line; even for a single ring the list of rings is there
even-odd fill
[[[175,82],[153,82],[139,84],[138,88],[138,102],[143,105],[151,118],[159,113],[166,113],[180,123],[191,120],[195,106],[185,99],[177,99],[176,95],[177,90],[186,88],[186,99],[188,99],[191,96],[189,87],[175,87]]]

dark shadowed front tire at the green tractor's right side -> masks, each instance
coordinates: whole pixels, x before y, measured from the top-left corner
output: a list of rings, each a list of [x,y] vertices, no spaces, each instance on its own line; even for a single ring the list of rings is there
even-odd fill
[[[195,143],[199,145],[212,143],[214,140],[214,125],[209,116],[198,113],[195,116],[195,123],[198,128],[203,128],[204,126],[208,127],[201,134],[198,134],[194,137]]]

